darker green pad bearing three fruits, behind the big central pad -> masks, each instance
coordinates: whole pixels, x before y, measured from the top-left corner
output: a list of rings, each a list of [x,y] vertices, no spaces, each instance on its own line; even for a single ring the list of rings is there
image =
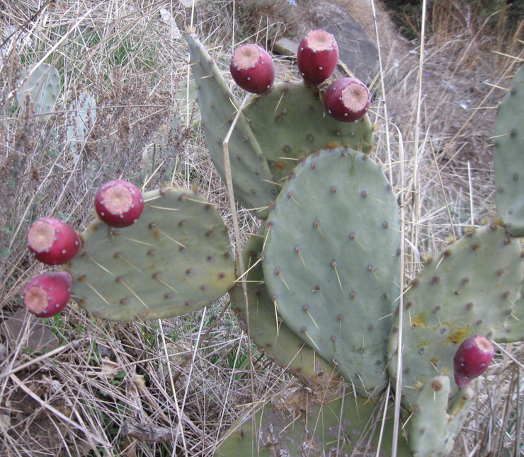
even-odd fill
[[[320,149],[347,146],[369,154],[372,125],[368,115],[358,122],[338,122],[326,114],[318,88],[304,83],[278,83],[254,96],[244,108],[275,182],[282,183],[297,161]]]

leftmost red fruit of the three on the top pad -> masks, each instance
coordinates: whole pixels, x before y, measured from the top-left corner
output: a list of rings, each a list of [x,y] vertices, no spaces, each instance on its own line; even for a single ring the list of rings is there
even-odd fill
[[[251,93],[269,91],[275,82],[275,64],[271,56],[258,45],[237,47],[229,64],[231,76],[240,88]]]

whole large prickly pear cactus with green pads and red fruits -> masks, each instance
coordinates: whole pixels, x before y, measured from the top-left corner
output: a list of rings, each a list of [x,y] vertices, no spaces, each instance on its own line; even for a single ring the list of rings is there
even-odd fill
[[[496,147],[499,218],[467,229],[402,288],[399,204],[370,154],[370,92],[353,78],[315,86],[336,65],[334,38],[315,30],[304,39],[300,82],[273,84],[266,51],[236,50],[232,76],[255,93],[242,109],[194,34],[188,47],[212,161],[224,180],[230,173],[239,204],[267,219],[238,253],[247,270],[240,261],[235,267],[216,205],[195,190],[164,187],[142,201],[139,190],[117,181],[97,195],[100,219],[81,236],[56,219],[30,227],[36,258],[67,265],[28,284],[26,306],[40,316],[48,304],[64,306],[65,293],[45,292],[60,274],[64,282],[71,275],[82,308],[112,320],[180,316],[229,292],[256,345],[302,386],[250,408],[216,456],[251,449],[379,455],[380,427],[368,426],[387,417],[383,430],[392,430],[388,384],[413,412],[411,420],[402,410],[395,418],[405,430],[397,455],[447,456],[474,399],[467,384],[493,357],[488,339],[524,339],[516,325],[524,316],[524,262],[515,238],[524,233],[523,200],[518,174],[508,177],[508,164],[522,154],[513,134],[501,134]],[[520,83],[522,69],[518,75]],[[500,132],[508,117],[523,122],[520,89],[501,106]],[[250,417],[260,430],[250,428]]]

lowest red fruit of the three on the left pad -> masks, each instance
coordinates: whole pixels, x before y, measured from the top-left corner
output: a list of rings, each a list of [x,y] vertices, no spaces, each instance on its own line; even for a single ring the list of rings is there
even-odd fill
[[[71,297],[69,272],[47,272],[28,282],[23,290],[25,308],[39,318],[51,318],[65,308]]]

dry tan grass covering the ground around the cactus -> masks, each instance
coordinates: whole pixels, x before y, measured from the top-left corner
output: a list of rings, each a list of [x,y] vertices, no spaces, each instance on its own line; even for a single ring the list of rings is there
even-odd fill
[[[287,2],[275,3],[234,7],[216,0],[192,12],[178,2],[0,1],[1,30],[10,36],[0,48],[0,319],[21,324],[14,337],[2,332],[0,343],[0,456],[208,456],[244,405],[290,381],[255,349],[249,370],[249,342],[225,299],[145,324],[92,320],[76,306],[45,320],[45,332],[24,312],[13,318],[23,285],[41,270],[25,248],[30,223],[54,215],[83,229],[93,195],[108,179],[123,176],[142,186],[152,177],[148,188],[197,185],[232,226],[200,129],[182,125],[166,144],[156,137],[188,74],[185,40],[159,10],[171,11],[181,30],[193,25],[225,68],[232,42],[268,43],[303,25]],[[377,159],[410,202],[407,277],[450,236],[494,214],[489,138],[503,95],[494,86],[508,85],[515,64],[491,51],[522,57],[514,36],[503,47],[487,40],[484,22],[467,3],[440,5],[431,12],[423,62],[419,43],[390,35],[382,41],[385,92],[377,89],[372,108]],[[369,16],[363,21],[369,25]],[[44,58],[62,74],[62,91],[57,112],[42,122],[16,109],[13,91],[21,68]],[[290,72],[285,60],[278,70],[280,78]],[[77,152],[67,139],[67,106],[81,91],[93,93],[98,115]],[[145,163],[152,144],[154,158],[149,154]],[[239,218],[246,234],[256,227],[246,212]],[[26,349],[37,331],[50,352]],[[504,347],[486,381],[477,383],[479,398],[456,455],[523,455],[523,358],[521,345]],[[126,436],[126,427],[142,440]]]

